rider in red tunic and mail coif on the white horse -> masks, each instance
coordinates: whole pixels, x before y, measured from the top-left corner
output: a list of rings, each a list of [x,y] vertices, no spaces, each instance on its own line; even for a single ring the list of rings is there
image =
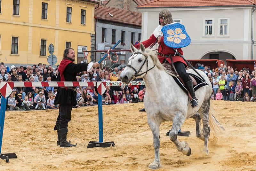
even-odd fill
[[[156,40],[158,40],[158,59],[161,63],[172,63],[171,59],[169,58],[170,55],[172,56],[173,64],[177,70],[177,73],[180,75],[181,79],[185,83],[186,88],[188,89],[190,95],[192,96],[192,100],[190,101],[190,103],[192,108],[194,108],[198,106],[198,102],[196,100],[196,95],[193,88],[193,81],[189,77],[189,74],[186,72],[187,64],[183,60],[183,58],[181,58],[180,56],[175,56],[175,51],[173,50],[173,48],[170,48],[169,46],[164,44],[164,36],[161,29],[163,28],[164,25],[171,25],[174,23],[176,22],[173,22],[172,20],[172,13],[169,10],[162,10],[159,13],[159,26],[156,27],[156,29],[154,30],[153,34],[149,37],[149,39],[143,41],[142,44],[145,46],[145,48],[148,48],[153,43],[155,43]],[[134,47],[139,49],[140,43],[136,44]],[[177,51],[180,52],[181,55],[183,55],[183,51],[181,50],[181,48],[178,48]],[[141,111],[143,111],[143,109]]]

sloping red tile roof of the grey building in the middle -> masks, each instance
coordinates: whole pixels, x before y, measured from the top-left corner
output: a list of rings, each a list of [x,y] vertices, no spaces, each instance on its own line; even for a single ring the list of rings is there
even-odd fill
[[[113,16],[111,17],[108,13],[112,14]],[[141,26],[140,12],[133,12],[115,7],[100,5],[99,8],[95,9],[94,15],[101,20]]]

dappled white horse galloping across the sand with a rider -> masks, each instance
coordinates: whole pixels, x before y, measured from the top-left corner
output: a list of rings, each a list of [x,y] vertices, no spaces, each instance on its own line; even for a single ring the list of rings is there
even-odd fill
[[[149,168],[159,168],[159,126],[166,120],[172,121],[172,129],[170,131],[170,140],[176,145],[178,151],[189,156],[191,149],[185,141],[180,142],[177,139],[177,133],[180,130],[185,119],[193,118],[196,121],[196,136],[204,140],[203,153],[208,155],[208,138],[210,136],[210,126],[212,129],[224,129],[215,119],[210,111],[210,99],[212,93],[212,85],[206,74],[200,70],[198,73],[206,80],[208,85],[199,88],[196,91],[198,98],[198,107],[192,108],[189,103],[188,95],[179,87],[157,58],[156,50],[145,49],[140,44],[140,50],[133,45],[132,56],[129,58],[128,65],[121,73],[122,82],[129,83],[132,79],[143,77],[146,85],[146,93],[144,96],[144,107],[147,112],[148,125],[153,133],[153,144],[155,149],[155,159],[149,164]],[[192,69],[187,72],[197,75]],[[210,111],[210,117],[209,117]],[[200,124],[203,121],[203,134]],[[209,123],[210,122],[210,123]],[[210,124],[210,126],[209,126]]]

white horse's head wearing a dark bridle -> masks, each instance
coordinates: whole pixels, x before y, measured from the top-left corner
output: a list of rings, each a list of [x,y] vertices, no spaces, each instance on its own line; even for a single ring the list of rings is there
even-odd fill
[[[139,50],[136,49],[132,44],[131,49],[132,56],[128,59],[128,65],[125,67],[124,71],[120,75],[120,78],[124,83],[129,83],[135,78],[144,77],[149,70],[156,66],[157,62],[156,51],[151,49],[145,49],[142,43],[140,43]],[[152,56],[155,56],[155,61],[154,57],[152,58]]]

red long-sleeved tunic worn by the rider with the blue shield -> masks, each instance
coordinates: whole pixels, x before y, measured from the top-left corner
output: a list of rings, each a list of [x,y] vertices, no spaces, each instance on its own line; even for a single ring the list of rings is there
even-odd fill
[[[153,34],[149,37],[148,40],[143,41],[142,44],[145,46],[145,48],[148,48],[151,44],[153,44],[155,42],[156,42],[156,37]],[[140,43],[136,44],[134,47],[139,49]],[[178,52],[180,52],[180,54],[183,55],[183,51],[181,50],[181,48],[178,48]],[[187,66],[186,62],[180,56],[173,56],[175,54],[175,51],[172,48],[170,48],[169,46],[166,46],[164,44],[164,36],[162,36],[162,38],[161,38],[160,45],[158,47],[158,53],[159,54],[163,53],[164,55],[168,55],[168,56],[172,55],[173,63],[174,62],[182,62],[183,64],[185,64]],[[166,57],[162,57],[161,55],[158,55],[158,59],[161,63],[164,62],[165,58]],[[166,59],[169,63],[172,63],[170,58],[166,58]]]

